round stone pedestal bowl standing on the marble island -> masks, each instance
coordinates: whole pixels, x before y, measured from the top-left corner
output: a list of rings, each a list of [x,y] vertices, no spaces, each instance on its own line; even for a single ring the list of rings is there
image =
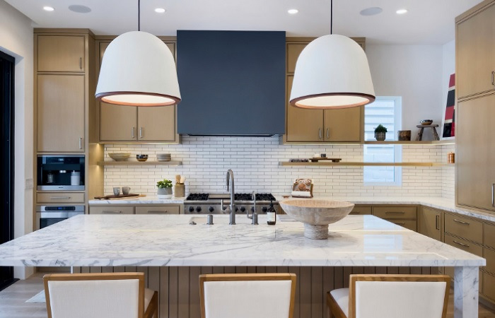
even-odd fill
[[[354,208],[346,201],[284,200],[279,202],[285,213],[304,223],[304,236],[312,240],[326,240],[328,225],[345,218]]]

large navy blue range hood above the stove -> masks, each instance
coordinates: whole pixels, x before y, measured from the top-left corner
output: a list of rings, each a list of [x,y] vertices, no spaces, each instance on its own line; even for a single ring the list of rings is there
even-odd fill
[[[285,46],[284,31],[178,30],[178,133],[285,134]]]

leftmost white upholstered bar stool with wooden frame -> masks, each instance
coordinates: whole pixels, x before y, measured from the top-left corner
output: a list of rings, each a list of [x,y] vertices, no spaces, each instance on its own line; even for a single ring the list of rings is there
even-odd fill
[[[158,318],[158,293],[144,288],[144,273],[43,276],[48,318]]]

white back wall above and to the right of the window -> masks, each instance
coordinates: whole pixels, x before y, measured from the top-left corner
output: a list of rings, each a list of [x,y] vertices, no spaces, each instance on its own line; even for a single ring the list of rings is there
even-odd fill
[[[441,45],[366,45],[376,95],[402,96],[402,130],[413,138],[421,119],[442,124],[442,54]],[[430,130],[424,140],[432,139]]]

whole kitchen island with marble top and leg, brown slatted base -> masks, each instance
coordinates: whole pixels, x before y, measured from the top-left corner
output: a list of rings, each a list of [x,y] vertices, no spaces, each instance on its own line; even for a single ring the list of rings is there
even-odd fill
[[[196,225],[190,225],[194,218]],[[295,317],[325,317],[324,294],[349,273],[429,273],[455,267],[455,317],[477,317],[485,260],[375,216],[331,224],[327,240],[303,224],[250,225],[238,216],[75,216],[0,245],[0,266],[76,266],[76,271],[144,271],[160,293],[160,317],[199,317],[200,273],[289,271],[298,275]]]

